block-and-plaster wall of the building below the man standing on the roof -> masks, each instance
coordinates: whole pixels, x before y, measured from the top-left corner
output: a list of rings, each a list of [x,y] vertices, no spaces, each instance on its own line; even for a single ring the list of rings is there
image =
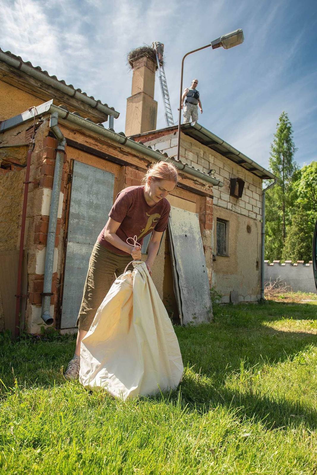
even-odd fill
[[[154,132],[149,138],[146,141],[142,137],[144,144],[166,152],[169,156],[177,155],[177,131],[167,134]],[[229,302],[231,290],[238,290],[240,301],[259,300],[262,180],[184,133],[181,134],[180,159],[205,173],[214,169],[215,177],[224,182],[221,188],[210,187],[213,195],[213,226],[211,229],[201,227],[207,268],[212,268],[209,275],[211,285],[223,295],[223,302]],[[230,178],[245,181],[240,199],[230,195]],[[217,256],[212,264],[212,253],[208,245],[211,245],[212,252],[216,255],[217,218],[230,223],[230,255]],[[248,224],[250,234],[246,230]],[[248,246],[245,246],[245,241]]]

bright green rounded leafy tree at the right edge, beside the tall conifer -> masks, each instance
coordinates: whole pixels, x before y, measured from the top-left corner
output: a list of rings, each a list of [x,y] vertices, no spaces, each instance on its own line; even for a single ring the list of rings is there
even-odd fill
[[[282,259],[308,262],[312,258],[312,241],[317,219],[317,161],[294,174],[292,194],[296,195]]]

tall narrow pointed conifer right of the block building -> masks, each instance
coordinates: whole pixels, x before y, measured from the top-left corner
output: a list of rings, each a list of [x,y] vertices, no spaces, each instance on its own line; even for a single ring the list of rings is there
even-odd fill
[[[297,149],[293,141],[292,124],[285,111],[279,116],[279,123],[271,144],[269,167],[277,176],[277,184],[266,193],[266,259],[279,259],[282,255],[286,227],[294,203],[291,181],[298,165],[294,161]]]

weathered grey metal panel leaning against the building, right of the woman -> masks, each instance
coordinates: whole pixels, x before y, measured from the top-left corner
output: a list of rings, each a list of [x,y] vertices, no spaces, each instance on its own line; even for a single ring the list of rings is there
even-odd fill
[[[178,279],[183,324],[210,322],[210,285],[198,214],[172,206],[169,219],[177,270],[175,281],[177,285]]]

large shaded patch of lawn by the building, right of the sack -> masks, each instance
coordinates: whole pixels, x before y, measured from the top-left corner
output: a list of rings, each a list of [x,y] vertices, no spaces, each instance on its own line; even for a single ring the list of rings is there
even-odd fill
[[[216,307],[213,323],[178,327],[176,333],[184,365],[212,376],[221,384],[228,372],[239,371],[241,360],[251,366],[272,365],[292,359],[298,352],[317,344],[316,334],[279,331],[268,326],[269,322],[282,318],[295,320],[292,309],[286,314],[281,306],[286,308],[279,303]],[[298,307],[306,305],[298,304]],[[305,315],[299,312],[298,320],[300,316],[301,320],[316,318],[317,308],[309,304],[307,307],[310,308]]]

